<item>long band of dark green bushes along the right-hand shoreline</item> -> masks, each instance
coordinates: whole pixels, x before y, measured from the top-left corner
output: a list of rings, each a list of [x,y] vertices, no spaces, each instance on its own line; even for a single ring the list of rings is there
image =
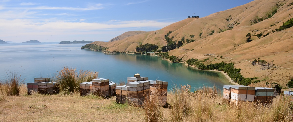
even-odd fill
[[[188,59],[186,61],[187,65],[193,65],[199,69],[207,69],[207,70],[218,70],[218,71],[223,71],[228,74],[228,76],[236,83],[240,85],[249,85],[251,84],[251,80],[257,79],[255,78],[245,78],[240,74],[241,69],[234,68],[233,63],[216,63],[216,64],[209,64],[209,65],[204,65],[202,63],[203,61],[199,61],[198,59]]]

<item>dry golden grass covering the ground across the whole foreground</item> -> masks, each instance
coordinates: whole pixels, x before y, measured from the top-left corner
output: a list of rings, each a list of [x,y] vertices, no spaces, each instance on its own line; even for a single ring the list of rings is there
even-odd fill
[[[188,92],[189,86],[168,92],[164,108],[158,97],[147,98],[144,108],[127,103],[117,104],[115,97],[103,99],[95,95],[4,95],[0,104],[0,121],[276,121],[293,120],[292,102],[277,96],[272,104],[241,102],[238,106],[222,104],[217,88],[201,87]],[[213,95],[211,95],[213,94]],[[216,95],[217,94],[217,95]],[[1,94],[0,94],[1,95]],[[211,97],[214,96],[214,97]],[[95,114],[93,114],[95,113]]]

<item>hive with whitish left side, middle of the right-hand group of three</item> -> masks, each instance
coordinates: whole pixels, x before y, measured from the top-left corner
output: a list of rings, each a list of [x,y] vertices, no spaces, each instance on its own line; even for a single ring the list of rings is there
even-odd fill
[[[239,101],[254,101],[255,87],[232,85],[231,103],[238,104]]]

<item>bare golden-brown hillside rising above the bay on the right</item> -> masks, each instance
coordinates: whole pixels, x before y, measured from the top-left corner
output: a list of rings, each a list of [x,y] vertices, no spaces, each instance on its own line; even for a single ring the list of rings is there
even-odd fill
[[[276,31],[276,29],[293,18],[292,8],[293,0],[255,0],[203,18],[187,18],[160,30],[109,43],[93,42],[92,44],[108,47],[108,51],[135,51],[139,43],[156,44],[161,48],[167,44],[164,35],[171,31],[168,37],[173,41],[178,42],[182,37],[194,41],[190,43],[185,41],[183,46],[170,50],[169,55],[182,57],[183,60],[210,58],[207,64],[222,61],[234,62],[236,68],[242,69],[243,76],[284,79],[285,82],[292,77],[292,74],[288,72],[293,71],[293,27],[282,31]],[[252,35],[253,41],[246,41],[248,33]],[[226,58],[217,57],[220,55]],[[252,71],[261,67],[250,67],[249,61],[257,58],[268,62],[274,60],[277,69],[265,71],[264,74],[254,74]],[[241,65],[240,62],[246,65]],[[280,71],[281,67],[287,68],[286,71],[283,70],[284,73]],[[280,77],[273,77],[272,74],[280,74]]]

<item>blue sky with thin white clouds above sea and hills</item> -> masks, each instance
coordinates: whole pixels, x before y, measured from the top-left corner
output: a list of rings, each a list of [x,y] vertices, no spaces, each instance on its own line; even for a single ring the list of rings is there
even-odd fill
[[[109,41],[123,32],[158,30],[253,0],[0,0],[0,39]]]

